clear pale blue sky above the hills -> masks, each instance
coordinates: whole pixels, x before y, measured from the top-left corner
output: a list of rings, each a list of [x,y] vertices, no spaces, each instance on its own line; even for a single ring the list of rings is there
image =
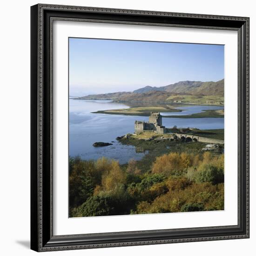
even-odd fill
[[[223,78],[223,45],[69,38],[72,96]]]

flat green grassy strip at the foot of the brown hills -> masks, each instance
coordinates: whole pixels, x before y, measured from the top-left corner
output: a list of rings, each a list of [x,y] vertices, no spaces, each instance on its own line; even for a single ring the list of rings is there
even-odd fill
[[[180,103],[190,103],[190,104],[209,104],[209,105],[223,105],[223,96],[206,96],[206,95],[172,95],[168,97],[166,101],[180,102]]]

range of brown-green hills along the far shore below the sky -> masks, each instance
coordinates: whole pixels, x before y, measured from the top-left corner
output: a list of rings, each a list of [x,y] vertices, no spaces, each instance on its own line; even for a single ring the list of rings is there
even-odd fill
[[[146,86],[133,92],[91,94],[74,99],[223,104],[224,79],[217,82],[180,81],[163,87]]]

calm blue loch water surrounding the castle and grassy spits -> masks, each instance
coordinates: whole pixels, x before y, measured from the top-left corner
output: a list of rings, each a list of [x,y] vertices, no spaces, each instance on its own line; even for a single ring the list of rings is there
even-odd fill
[[[147,152],[136,152],[135,147],[121,145],[115,140],[117,136],[134,132],[135,120],[148,121],[145,116],[93,114],[98,110],[128,108],[125,104],[111,101],[79,101],[69,99],[69,155],[81,156],[82,159],[98,159],[106,156],[126,163],[129,159],[140,160]],[[206,109],[223,109],[219,106],[179,107],[182,112],[168,115],[191,115]],[[166,114],[166,113],[163,113]],[[164,118],[163,125],[179,128],[196,127],[199,129],[222,129],[223,118]],[[111,142],[112,146],[93,147],[96,141]]]

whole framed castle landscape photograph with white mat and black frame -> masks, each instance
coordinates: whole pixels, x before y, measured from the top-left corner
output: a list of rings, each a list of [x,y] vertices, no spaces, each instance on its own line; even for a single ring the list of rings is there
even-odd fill
[[[249,238],[249,18],[31,7],[31,249]]]

